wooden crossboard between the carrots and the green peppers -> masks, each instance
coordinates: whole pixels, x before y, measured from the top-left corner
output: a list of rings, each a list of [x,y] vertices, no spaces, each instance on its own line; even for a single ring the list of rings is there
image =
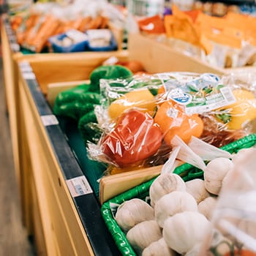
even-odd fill
[[[124,61],[128,59],[128,52],[39,53],[18,56],[15,61],[29,61],[42,93],[46,95],[49,83],[87,80],[91,72],[111,56]]]

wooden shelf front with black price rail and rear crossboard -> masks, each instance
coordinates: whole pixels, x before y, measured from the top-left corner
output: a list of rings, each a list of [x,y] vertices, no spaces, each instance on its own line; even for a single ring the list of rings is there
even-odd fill
[[[52,70],[56,63],[71,70],[67,80],[83,69],[83,79],[88,78],[113,53],[26,55],[20,52],[8,18],[1,24],[1,39],[12,151],[28,236],[34,236],[40,255],[120,255],[99,201],[50,109],[46,87],[42,90],[39,83],[59,80]],[[127,51],[115,54],[127,59]]]

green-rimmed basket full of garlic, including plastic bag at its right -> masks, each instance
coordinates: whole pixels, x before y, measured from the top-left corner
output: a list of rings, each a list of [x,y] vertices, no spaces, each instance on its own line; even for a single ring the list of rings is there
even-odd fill
[[[157,246],[154,245],[155,243],[165,244],[162,249],[166,250],[166,255],[176,255],[177,252],[179,253],[178,255],[237,255],[235,253],[241,252],[241,250],[244,249],[246,252],[254,255],[255,233],[252,231],[253,228],[249,230],[246,225],[254,225],[254,221],[250,219],[251,215],[249,214],[255,211],[253,207],[251,207],[253,203],[249,203],[248,208],[246,208],[246,201],[243,203],[243,200],[249,193],[252,193],[252,197],[247,197],[248,202],[254,200],[255,177],[252,174],[246,177],[244,176],[244,172],[250,172],[250,170],[252,170],[251,167],[254,160],[249,161],[248,165],[245,166],[241,165],[241,162],[246,161],[246,159],[249,160],[247,157],[255,153],[255,142],[255,134],[253,134],[222,147],[223,150],[229,151],[230,154],[232,154],[231,159],[234,167],[233,169],[227,170],[228,174],[224,176],[226,178],[222,177],[220,181],[215,181],[216,177],[211,176],[211,182],[220,182],[223,186],[222,192],[218,197],[207,192],[207,189],[200,189],[202,197],[198,200],[198,197],[196,197],[196,195],[198,195],[197,185],[193,187],[193,185],[189,183],[198,180],[198,178],[200,178],[202,184],[206,183],[206,179],[204,179],[205,181],[202,179],[205,171],[198,170],[193,165],[184,164],[176,167],[173,173],[167,174],[167,176],[170,176],[170,182],[168,182],[169,189],[165,190],[165,182],[161,181],[157,185],[158,188],[153,189],[152,186],[156,186],[154,184],[158,179],[162,179],[162,175],[166,175],[160,174],[157,178],[129,189],[127,192],[117,195],[105,202],[102,205],[102,216],[122,255],[127,255],[127,253],[129,255],[148,255],[151,251],[149,247]],[[247,152],[247,150],[248,153],[242,153]],[[244,157],[242,156],[243,154]],[[228,158],[226,159],[228,160]],[[215,159],[212,161],[214,160]],[[240,162],[240,164],[238,164],[238,162]],[[227,167],[227,165],[223,165],[223,167]],[[215,170],[215,173],[218,173],[218,171]],[[187,192],[184,185],[182,185],[182,181],[178,179],[179,183],[177,184],[177,174],[183,178],[186,187],[190,187],[190,189],[187,189]],[[238,190],[241,191],[239,188],[244,185],[239,182],[237,176],[243,176],[243,179],[246,179],[246,182],[251,184],[249,187],[246,187],[246,183],[243,183],[245,187],[243,187],[244,192],[241,192],[241,194]],[[231,189],[231,187],[233,187],[234,191],[237,189],[236,192],[238,192],[239,195],[235,193],[230,197],[229,189]],[[233,189],[231,189],[231,191],[233,191]],[[127,230],[127,227],[121,224],[123,220],[119,216],[118,211],[122,211],[123,206],[135,199],[150,203],[152,196],[151,191],[159,193],[159,199],[157,199],[156,204],[153,204],[153,207],[155,213],[154,218],[160,226],[164,225],[162,234],[160,233],[159,236],[151,236],[151,239],[147,238],[149,232],[154,233],[154,229],[149,231],[149,228],[143,228],[141,225],[142,223],[146,225],[148,222],[148,219],[146,219],[147,215],[145,215],[145,219],[139,220],[137,218],[136,221],[133,221],[140,208],[127,207],[127,213],[121,214],[121,216],[123,218],[126,218],[127,215],[130,216],[132,218],[130,221],[133,221],[134,227],[141,225],[140,231],[136,233],[138,239],[133,239],[131,236],[128,236],[128,234],[129,230],[132,230],[134,227],[129,226]],[[240,196],[241,200],[237,201],[236,198]],[[168,200],[169,197],[172,198],[172,200]],[[195,198],[197,198],[197,200]],[[212,203],[205,201],[210,199],[213,200]],[[228,203],[227,200],[229,200]],[[203,203],[205,203],[205,206],[202,205]],[[159,208],[162,208],[162,210],[159,211]],[[223,208],[225,208],[225,211],[222,211]],[[211,211],[211,213],[206,214],[206,210]],[[148,210],[143,208],[143,210],[140,209],[140,211],[146,214]],[[244,226],[240,226],[239,224],[239,217],[241,216],[246,217]],[[162,221],[163,218],[166,219],[164,222]],[[223,225],[225,224],[227,229],[222,230],[222,224],[220,224],[220,222],[222,222]],[[118,223],[120,223],[120,225]],[[217,230],[212,229],[212,223],[216,225]],[[154,228],[157,229],[157,227]],[[243,232],[240,232],[240,228]],[[211,230],[214,230],[217,236],[211,236]],[[222,233],[222,235],[220,233]],[[165,242],[161,240],[162,238]],[[213,240],[211,240],[211,238]],[[249,238],[250,242],[245,240],[246,238]],[[211,242],[211,252],[206,252]],[[218,246],[219,248],[217,248]],[[224,247],[225,251],[221,250],[222,247]],[[202,251],[200,252],[201,249]]]

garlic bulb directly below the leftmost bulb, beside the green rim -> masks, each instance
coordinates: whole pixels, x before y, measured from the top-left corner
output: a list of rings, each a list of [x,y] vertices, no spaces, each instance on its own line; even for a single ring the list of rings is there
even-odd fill
[[[140,222],[127,233],[127,240],[138,255],[154,241],[162,238],[162,230],[155,220]]]

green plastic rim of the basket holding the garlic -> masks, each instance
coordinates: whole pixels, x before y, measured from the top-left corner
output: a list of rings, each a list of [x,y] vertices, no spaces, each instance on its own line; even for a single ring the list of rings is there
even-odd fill
[[[232,153],[238,152],[241,148],[250,148],[256,144],[256,134],[248,135],[240,140],[236,140],[233,143],[223,146],[222,149]],[[194,178],[203,178],[203,171],[189,164],[184,164],[176,167],[174,173],[181,176],[184,181],[190,181]],[[137,187],[127,190],[126,192],[113,197],[102,205],[101,213],[105,221],[105,224],[110,231],[110,234],[113,236],[113,239],[118,246],[121,255],[131,255],[136,256],[135,251],[132,249],[132,246],[127,241],[125,233],[118,226],[116,220],[113,217],[111,211],[112,204],[121,204],[126,200],[131,200],[132,198],[140,198],[145,200],[149,194],[149,188],[153,183],[155,178],[147,181],[146,183],[140,184]]]

